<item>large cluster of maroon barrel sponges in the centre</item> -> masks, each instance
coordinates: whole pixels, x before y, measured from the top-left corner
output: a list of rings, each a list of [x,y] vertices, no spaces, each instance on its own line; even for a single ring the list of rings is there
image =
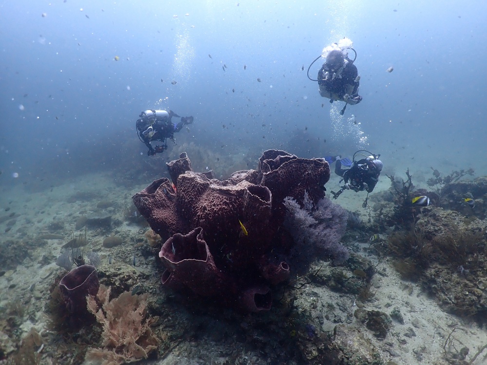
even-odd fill
[[[285,197],[317,204],[324,197],[330,168],[324,159],[302,159],[267,150],[258,170],[227,180],[191,170],[186,153],[168,164],[169,179],[154,181],[132,199],[161,237],[162,283],[187,287],[246,311],[268,310],[270,285],[289,276],[279,228]]]

